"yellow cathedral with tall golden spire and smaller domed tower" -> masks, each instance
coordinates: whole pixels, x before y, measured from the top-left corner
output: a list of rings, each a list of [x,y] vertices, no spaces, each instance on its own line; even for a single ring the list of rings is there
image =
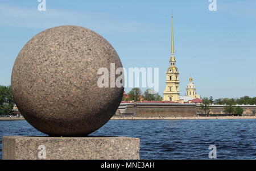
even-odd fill
[[[200,95],[196,94],[196,87],[192,77],[189,78],[186,96],[180,96],[179,79],[179,70],[176,66],[176,59],[174,54],[174,17],[172,16],[171,57],[169,61],[169,67],[166,72],[166,89],[163,92],[163,101],[178,102],[180,99],[184,101],[184,99],[200,98]]]

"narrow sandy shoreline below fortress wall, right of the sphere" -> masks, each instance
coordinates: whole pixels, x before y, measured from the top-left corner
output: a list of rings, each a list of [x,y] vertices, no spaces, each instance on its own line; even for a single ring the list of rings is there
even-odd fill
[[[200,119],[256,119],[256,116],[172,116],[172,117],[138,117],[113,116],[110,120],[200,120]]]

